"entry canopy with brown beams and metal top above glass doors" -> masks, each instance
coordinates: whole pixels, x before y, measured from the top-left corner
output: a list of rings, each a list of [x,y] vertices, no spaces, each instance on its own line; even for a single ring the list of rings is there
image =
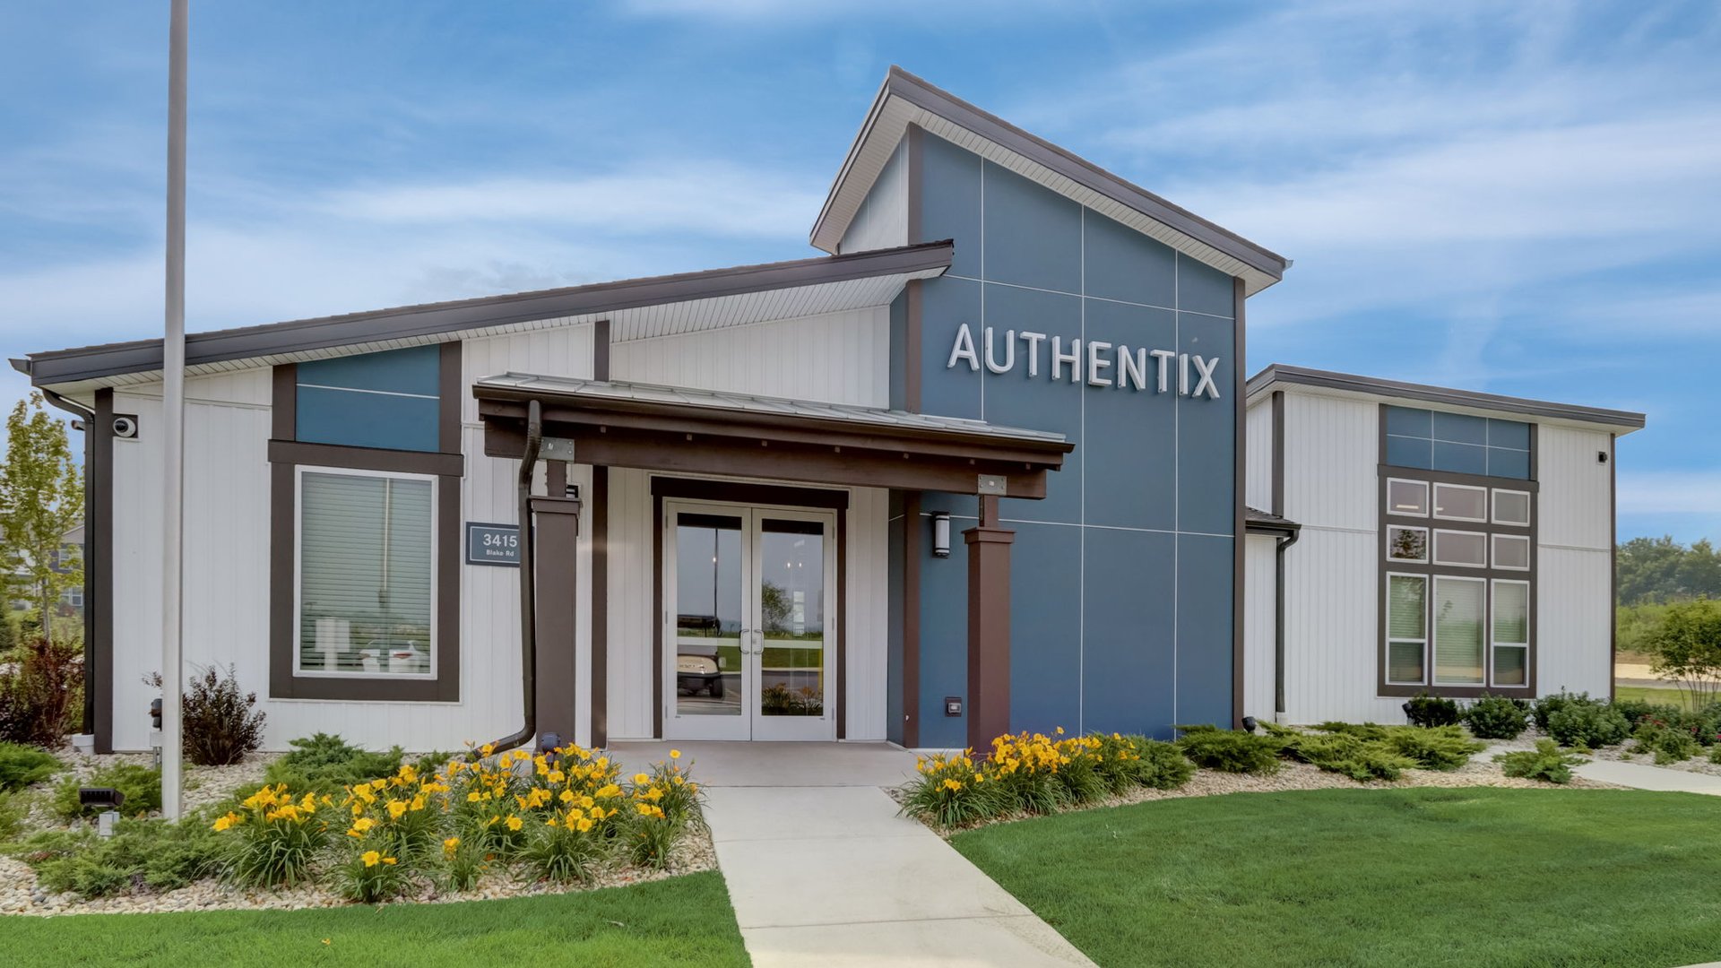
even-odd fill
[[[527,405],[573,460],[680,474],[1045,498],[1064,434],[983,420],[704,389],[503,374],[472,388],[484,451],[525,451]],[[568,460],[568,458],[563,458]]]

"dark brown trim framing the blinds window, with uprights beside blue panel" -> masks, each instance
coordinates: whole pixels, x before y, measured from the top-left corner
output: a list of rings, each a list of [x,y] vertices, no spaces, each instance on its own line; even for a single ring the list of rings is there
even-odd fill
[[[463,555],[460,455],[461,348],[442,348],[439,370],[437,441],[454,444],[454,453],[391,451],[299,443],[296,427],[298,372],[282,363],[272,374],[272,417],[268,441],[268,696],[275,699],[353,699],[353,701],[460,701],[460,579]],[[398,474],[432,474],[437,479],[435,503],[435,679],[339,679],[294,675],[298,655],[298,467],[344,467]]]

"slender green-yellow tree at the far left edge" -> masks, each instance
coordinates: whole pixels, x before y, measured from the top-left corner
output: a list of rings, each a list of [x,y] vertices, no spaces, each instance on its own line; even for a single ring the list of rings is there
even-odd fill
[[[72,460],[65,424],[41,394],[19,401],[5,422],[7,455],[0,467],[0,537],[12,558],[15,586],[41,610],[41,634],[53,637],[53,603],[84,582],[83,555],[65,532],[84,518],[84,474]]]

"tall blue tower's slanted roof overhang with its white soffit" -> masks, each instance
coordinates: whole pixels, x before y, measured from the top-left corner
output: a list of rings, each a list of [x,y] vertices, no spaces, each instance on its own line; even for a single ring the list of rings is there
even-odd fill
[[[995,164],[1029,177],[1067,198],[1117,219],[1191,258],[1241,276],[1246,293],[1272,286],[1291,262],[1237,233],[1224,229],[1187,208],[1174,205],[1093,162],[1002,117],[926,83],[902,67],[891,67],[873,109],[860,124],[836,179],[831,183],[811,241],[836,251],[848,222],[860,208],[885,162],[909,124],[960,145]]]

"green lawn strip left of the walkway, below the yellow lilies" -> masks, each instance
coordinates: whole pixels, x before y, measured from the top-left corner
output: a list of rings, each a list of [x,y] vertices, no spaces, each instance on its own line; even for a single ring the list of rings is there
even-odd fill
[[[716,872],[513,901],[7,918],[0,935],[5,965],[747,965]]]

